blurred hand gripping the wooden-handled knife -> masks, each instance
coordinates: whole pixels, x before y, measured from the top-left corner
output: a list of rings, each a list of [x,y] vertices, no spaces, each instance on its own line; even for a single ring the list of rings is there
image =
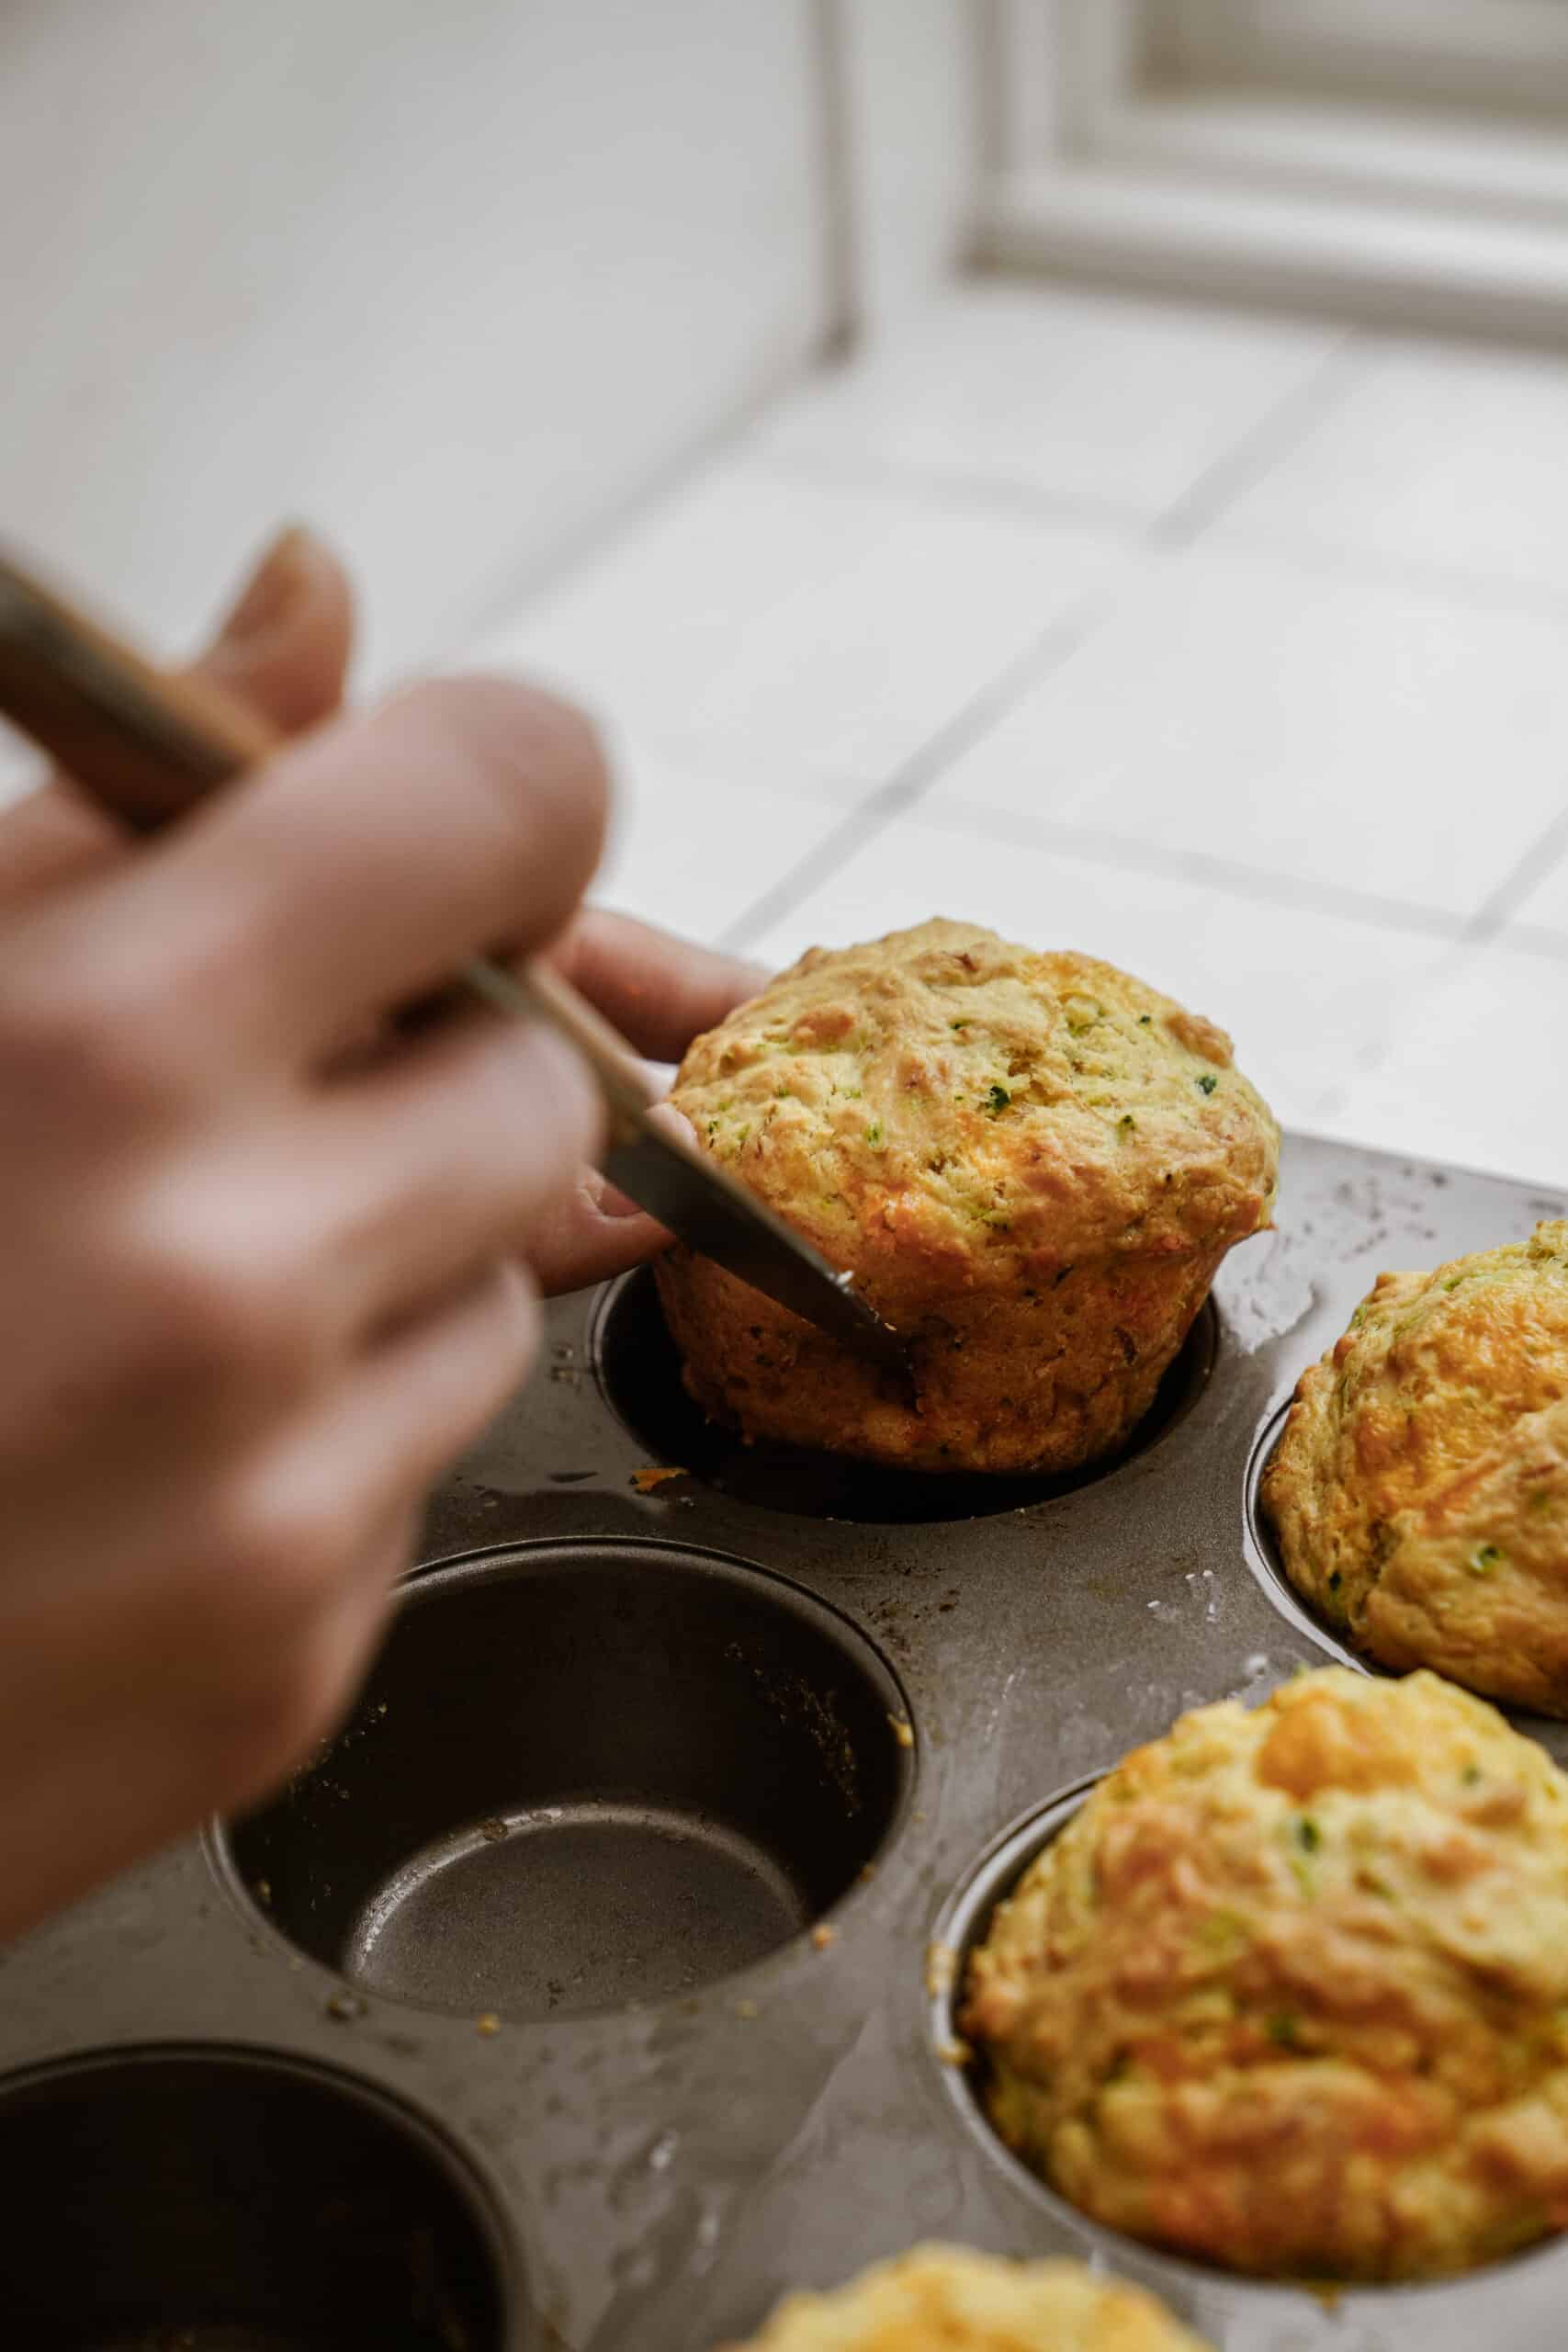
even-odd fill
[[[322,724],[346,649],[296,541],[209,656],[296,748],[153,847],[66,783],[0,818],[0,1933],[331,1726],[597,1143],[543,1028],[343,1054],[555,941],[604,807],[583,720],[522,687]],[[599,938],[562,953],[611,990]]]

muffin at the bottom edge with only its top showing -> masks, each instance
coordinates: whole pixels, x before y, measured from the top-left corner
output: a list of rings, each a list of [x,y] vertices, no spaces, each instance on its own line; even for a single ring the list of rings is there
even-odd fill
[[[790,2296],[731,2352],[1206,2352],[1152,2296],[1081,2263],[917,2246],[832,2296]]]

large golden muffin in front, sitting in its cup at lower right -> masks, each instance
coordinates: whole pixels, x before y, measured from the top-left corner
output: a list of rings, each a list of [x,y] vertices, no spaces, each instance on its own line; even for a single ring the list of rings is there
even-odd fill
[[[1568,1778],[1436,1675],[1300,1675],[1135,1750],[997,1907],[1001,2138],[1232,2270],[1427,2279],[1568,2223]]]

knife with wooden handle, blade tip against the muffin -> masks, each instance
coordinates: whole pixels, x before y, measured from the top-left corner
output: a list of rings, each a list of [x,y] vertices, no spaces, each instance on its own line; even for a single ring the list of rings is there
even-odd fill
[[[0,713],[120,816],[155,833],[259,767],[280,739],[205,677],[172,677],[0,550]],[[609,1112],[604,1174],[682,1242],[907,1383],[905,1345],[792,1225],[656,1115],[646,1068],[548,964],[475,960],[461,985],[545,1018],[590,1065]]]

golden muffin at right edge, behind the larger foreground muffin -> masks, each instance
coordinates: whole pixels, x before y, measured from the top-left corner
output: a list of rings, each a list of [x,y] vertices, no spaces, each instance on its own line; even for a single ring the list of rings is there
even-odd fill
[[[1302,1374],[1262,1505],[1371,1656],[1568,1715],[1568,1223],[1380,1275]]]

